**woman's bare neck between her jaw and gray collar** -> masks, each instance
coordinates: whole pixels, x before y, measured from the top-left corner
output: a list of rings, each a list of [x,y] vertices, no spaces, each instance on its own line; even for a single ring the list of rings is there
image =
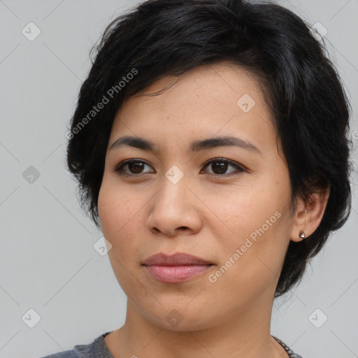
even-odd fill
[[[272,301],[266,299],[230,313],[229,318],[220,324],[195,330],[178,324],[176,330],[170,330],[148,320],[131,301],[127,301],[123,327],[105,339],[115,358],[181,358],[194,355],[196,358],[286,358],[287,352],[270,334],[271,310]]]

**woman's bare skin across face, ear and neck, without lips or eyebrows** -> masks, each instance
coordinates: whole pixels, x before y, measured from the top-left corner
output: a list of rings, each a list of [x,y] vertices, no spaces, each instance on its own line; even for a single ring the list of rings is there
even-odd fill
[[[236,104],[243,94],[255,100],[248,113]],[[145,138],[158,150],[110,150],[122,136]],[[261,153],[234,146],[190,152],[192,141],[213,136],[242,138]],[[215,158],[245,170],[206,165]],[[120,176],[114,169],[125,159],[147,165],[124,166],[129,176]],[[184,174],[176,184],[165,176],[173,165]],[[227,62],[199,66],[131,96],[113,122],[98,201],[110,264],[127,295],[125,323],[106,336],[108,350],[115,358],[288,357],[270,334],[275,287],[289,241],[301,241],[300,230],[315,231],[326,203],[327,195],[318,193],[297,201],[292,215],[273,118],[259,83],[244,69]],[[275,213],[280,218],[210,282]],[[157,252],[187,252],[213,266],[186,282],[163,283],[141,265]],[[172,310],[182,318],[175,327],[166,320]]]

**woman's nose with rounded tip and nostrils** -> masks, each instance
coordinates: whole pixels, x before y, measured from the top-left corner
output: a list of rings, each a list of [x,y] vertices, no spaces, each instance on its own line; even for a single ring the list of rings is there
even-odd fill
[[[146,222],[152,233],[166,236],[196,234],[202,227],[199,212],[201,201],[182,178],[173,184],[165,176],[162,187],[150,201],[150,215]]]

